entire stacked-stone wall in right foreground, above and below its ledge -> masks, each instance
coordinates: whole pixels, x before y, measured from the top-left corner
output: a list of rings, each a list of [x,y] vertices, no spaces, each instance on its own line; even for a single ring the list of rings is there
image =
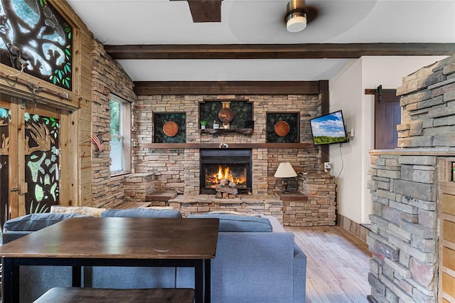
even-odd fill
[[[455,56],[403,78],[402,149],[371,151],[370,302],[437,302],[438,158],[455,154]]]

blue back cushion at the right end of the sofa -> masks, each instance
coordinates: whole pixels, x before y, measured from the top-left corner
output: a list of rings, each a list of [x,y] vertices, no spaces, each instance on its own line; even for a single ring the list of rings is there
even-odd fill
[[[218,218],[220,232],[259,232],[271,233],[272,224],[267,218],[218,213],[202,213],[189,215],[188,218]]]

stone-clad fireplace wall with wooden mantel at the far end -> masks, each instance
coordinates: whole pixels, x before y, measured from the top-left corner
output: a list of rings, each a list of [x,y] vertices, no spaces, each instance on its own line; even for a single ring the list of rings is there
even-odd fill
[[[240,188],[239,193],[245,191],[252,196],[267,196],[277,190],[274,171],[282,161],[289,161],[298,173],[321,171],[321,149],[312,144],[309,119],[321,113],[322,99],[327,94],[320,95],[319,92],[325,90],[324,87],[326,86],[321,85],[318,90],[305,95],[139,96],[134,107],[137,124],[135,136],[139,138],[137,143],[133,143],[137,149],[134,151],[134,172],[156,171],[156,188],[159,190],[173,189],[185,195],[200,195],[205,191],[210,191],[211,194],[213,190],[205,182],[208,172],[205,171],[205,167],[201,167],[201,158],[203,162],[205,159],[210,160],[212,162],[210,164],[213,164],[211,169],[217,171],[218,164],[221,163],[218,160],[230,164],[228,165],[230,169],[232,165],[238,166],[234,167],[235,170],[240,169],[239,164],[242,161],[243,168],[241,171],[235,171],[235,174],[243,174],[246,169],[247,181],[246,184],[242,184],[243,188]],[[219,132],[204,129],[203,132],[199,123],[199,102],[220,98],[251,102],[254,109],[254,129],[247,134],[235,132],[238,129],[218,129]],[[325,100],[324,104],[326,102],[328,100]],[[267,131],[270,130],[267,128],[267,113],[279,110],[299,112],[299,124],[295,125],[299,129],[298,142],[267,141]],[[150,120],[153,112],[185,112],[186,142],[153,142],[154,124]],[[212,132],[208,132],[209,130]],[[244,154],[240,156],[225,154],[221,156],[222,159],[213,162],[213,155],[208,158],[206,156],[207,153],[214,151]],[[229,160],[234,157],[235,161]],[[209,164],[210,161],[206,161],[205,164]]]

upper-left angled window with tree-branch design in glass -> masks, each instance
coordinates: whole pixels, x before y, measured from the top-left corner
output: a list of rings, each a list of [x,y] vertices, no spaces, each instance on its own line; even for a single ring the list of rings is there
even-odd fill
[[[0,0],[1,63],[72,90],[73,28],[46,0]]]

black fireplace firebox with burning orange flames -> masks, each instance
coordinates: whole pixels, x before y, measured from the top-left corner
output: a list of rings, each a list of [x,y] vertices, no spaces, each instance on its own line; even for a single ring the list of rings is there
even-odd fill
[[[238,193],[250,193],[251,155],[251,149],[201,149],[200,193],[215,193],[222,179],[233,182]]]

